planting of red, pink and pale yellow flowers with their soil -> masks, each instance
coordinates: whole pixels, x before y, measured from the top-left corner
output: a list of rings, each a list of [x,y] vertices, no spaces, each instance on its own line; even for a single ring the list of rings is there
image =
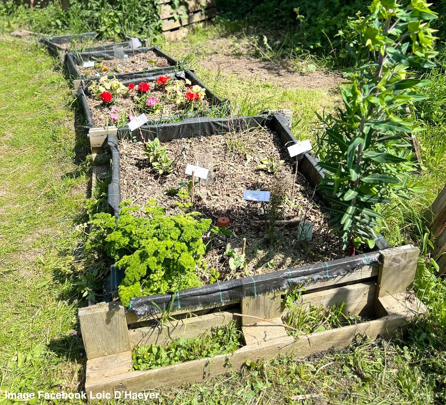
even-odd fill
[[[144,113],[149,120],[200,112],[210,108],[203,87],[192,86],[190,80],[175,80],[169,75],[152,82],[128,86],[116,77],[102,77],[88,87],[87,105],[95,125],[123,127],[135,116]]]

